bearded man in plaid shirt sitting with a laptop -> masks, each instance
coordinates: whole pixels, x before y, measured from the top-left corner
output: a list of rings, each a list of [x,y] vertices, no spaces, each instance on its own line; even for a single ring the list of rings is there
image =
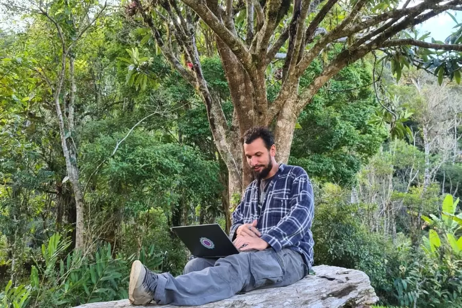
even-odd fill
[[[201,305],[306,276],[314,245],[313,189],[306,172],[276,162],[274,137],[265,127],[244,134],[244,153],[255,180],[233,213],[230,237],[241,253],[192,259],[176,278],[134,261],[128,290],[132,304]]]

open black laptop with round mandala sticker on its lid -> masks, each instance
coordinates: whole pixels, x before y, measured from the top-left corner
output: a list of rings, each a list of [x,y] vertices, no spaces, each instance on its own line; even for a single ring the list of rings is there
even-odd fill
[[[200,258],[223,258],[239,254],[218,223],[171,228],[191,254]]]

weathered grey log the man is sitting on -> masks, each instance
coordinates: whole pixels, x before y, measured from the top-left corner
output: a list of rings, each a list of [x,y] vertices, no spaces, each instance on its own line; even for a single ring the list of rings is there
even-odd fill
[[[369,277],[361,271],[336,266],[314,266],[316,276],[290,286],[254,290],[246,294],[202,305],[202,308],[244,307],[310,307],[340,308],[368,307],[378,301]],[[137,307],[152,307],[155,304]],[[127,299],[80,305],[76,308],[128,308],[135,307]],[[163,305],[163,308],[177,307]],[[199,307],[199,306],[194,306]]]

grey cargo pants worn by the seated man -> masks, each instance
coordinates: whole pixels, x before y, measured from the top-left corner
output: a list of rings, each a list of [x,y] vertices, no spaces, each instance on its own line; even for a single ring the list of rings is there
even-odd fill
[[[184,274],[159,275],[154,300],[159,304],[202,305],[256,288],[285,286],[308,273],[301,255],[284,248],[240,253],[220,259],[190,260]]]

